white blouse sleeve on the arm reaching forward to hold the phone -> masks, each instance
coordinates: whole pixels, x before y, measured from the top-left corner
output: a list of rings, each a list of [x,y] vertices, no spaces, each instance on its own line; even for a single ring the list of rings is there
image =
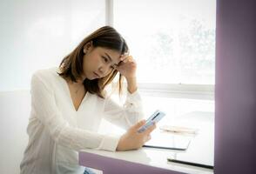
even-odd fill
[[[32,108],[39,121],[44,124],[52,139],[73,150],[80,151],[85,148],[96,148],[107,151],[116,151],[119,137],[101,135],[92,131],[85,131],[71,127],[57,109],[54,93],[49,84],[35,73],[31,79]]]

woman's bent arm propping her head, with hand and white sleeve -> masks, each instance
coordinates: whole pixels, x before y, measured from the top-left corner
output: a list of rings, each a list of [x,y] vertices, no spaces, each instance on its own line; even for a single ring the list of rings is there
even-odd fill
[[[123,107],[115,104],[111,99],[106,100],[104,105],[105,119],[117,124],[126,130],[131,125],[138,123],[144,117],[141,97],[138,95],[135,60],[125,54],[120,57],[121,62],[115,69],[125,77],[127,82],[127,96]]]

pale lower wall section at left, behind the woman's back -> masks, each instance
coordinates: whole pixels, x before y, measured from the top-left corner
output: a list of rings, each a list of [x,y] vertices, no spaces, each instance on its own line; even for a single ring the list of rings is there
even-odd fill
[[[0,173],[17,174],[28,143],[29,90],[0,92],[0,106]]]

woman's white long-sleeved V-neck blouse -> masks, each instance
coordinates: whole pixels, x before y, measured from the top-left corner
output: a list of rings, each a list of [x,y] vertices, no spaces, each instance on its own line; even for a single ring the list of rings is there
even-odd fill
[[[37,70],[31,79],[29,143],[20,165],[21,174],[84,173],[78,151],[85,148],[116,151],[120,135],[99,134],[102,118],[127,130],[143,118],[138,91],[127,92],[123,107],[110,97],[86,93],[78,110],[58,68]]]

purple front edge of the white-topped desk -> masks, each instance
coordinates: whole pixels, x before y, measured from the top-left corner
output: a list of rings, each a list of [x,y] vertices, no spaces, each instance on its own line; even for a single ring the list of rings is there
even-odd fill
[[[79,151],[79,164],[103,171],[103,174],[182,174],[177,171],[169,171],[145,164],[132,163],[122,159],[104,157],[85,151]]]

